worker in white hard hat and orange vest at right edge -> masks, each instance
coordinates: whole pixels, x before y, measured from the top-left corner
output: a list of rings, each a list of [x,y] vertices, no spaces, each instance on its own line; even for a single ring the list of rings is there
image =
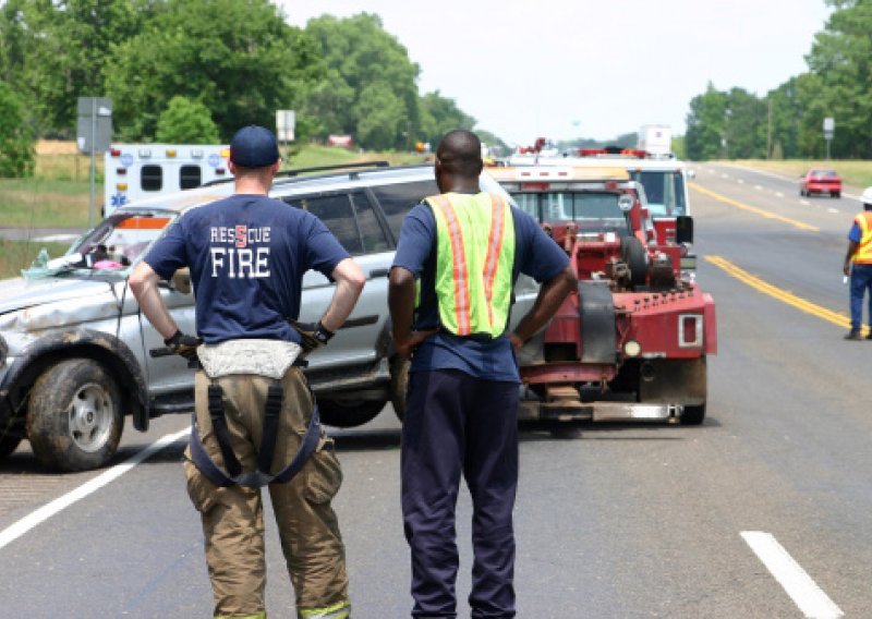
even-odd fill
[[[863,295],[869,291],[869,332],[872,340],[872,187],[860,196],[863,211],[853,218],[848,232],[848,253],[845,255],[845,275],[851,276],[851,330],[846,340],[862,339]],[[853,267],[851,268],[851,263]]]

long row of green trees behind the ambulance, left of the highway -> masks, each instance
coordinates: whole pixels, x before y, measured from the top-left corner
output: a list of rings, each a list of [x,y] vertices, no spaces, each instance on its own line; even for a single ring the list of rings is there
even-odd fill
[[[496,141],[438,90],[420,94],[420,73],[374,14],[299,28],[268,0],[0,0],[0,118],[17,119],[19,142],[74,137],[92,96],[112,99],[119,142],[227,142],[278,109],[296,111],[298,141],[411,149],[459,128]]]

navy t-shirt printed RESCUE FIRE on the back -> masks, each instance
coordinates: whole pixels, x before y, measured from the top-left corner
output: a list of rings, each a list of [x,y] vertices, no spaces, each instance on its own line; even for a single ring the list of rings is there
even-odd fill
[[[311,213],[263,195],[233,195],[185,213],[145,262],[165,279],[190,267],[197,335],[206,343],[263,338],[300,343],[302,277],[329,277],[348,252]]]

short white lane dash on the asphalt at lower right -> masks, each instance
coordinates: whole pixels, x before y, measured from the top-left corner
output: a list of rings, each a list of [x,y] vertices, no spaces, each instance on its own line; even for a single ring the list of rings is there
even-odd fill
[[[742,531],[741,536],[806,617],[836,619],[845,616],[770,533]]]

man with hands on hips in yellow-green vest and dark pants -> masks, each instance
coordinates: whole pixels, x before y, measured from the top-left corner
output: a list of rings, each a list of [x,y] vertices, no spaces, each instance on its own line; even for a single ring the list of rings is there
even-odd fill
[[[514,617],[520,380],[513,349],[550,320],[577,286],[566,253],[533,218],[505,194],[481,192],[482,167],[475,134],[453,131],[443,138],[436,151],[441,194],[407,216],[390,271],[393,341],[400,354],[414,353],[401,452],[413,617],[456,617],[461,474],[473,503],[472,617]],[[508,332],[521,272],[542,288]]]

